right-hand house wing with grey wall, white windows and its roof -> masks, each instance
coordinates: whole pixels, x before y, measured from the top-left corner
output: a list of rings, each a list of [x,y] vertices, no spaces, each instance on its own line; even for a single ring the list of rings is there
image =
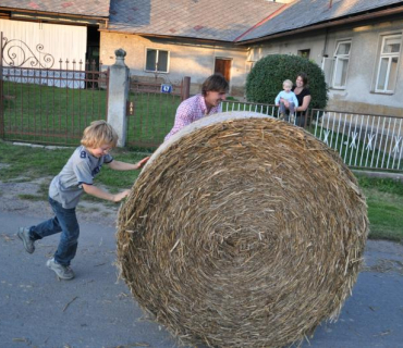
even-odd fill
[[[247,61],[298,54],[322,67],[329,110],[403,116],[403,1],[295,0],[246,33]]]

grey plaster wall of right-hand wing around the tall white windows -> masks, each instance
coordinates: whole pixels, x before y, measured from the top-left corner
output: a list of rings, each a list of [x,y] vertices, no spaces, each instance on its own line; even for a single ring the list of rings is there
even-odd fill
[[[373,20],[370,23],[359,25],[344,25],[328,30],[321,29],[272,39],[270,42],[251,47],[247,60],[253,62],[273,53],[297,54],[298,50],[309,49],[309,59],[322,66],[323,55],[328,54],[329,58],[333,58],[339,40],[351,39],[346,86],[344,89],[330,88],[328,109],[403,116],[403,41],[394,91],[392,94],[375,92],[381,36],[399,33],[403,33],[403,18]]]

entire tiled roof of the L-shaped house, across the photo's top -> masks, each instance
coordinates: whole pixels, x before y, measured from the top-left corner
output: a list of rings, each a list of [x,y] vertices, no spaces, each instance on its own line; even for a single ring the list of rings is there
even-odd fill
[[[0,8],[109,17],[108,30],[240,44],[376,11],[402,0],[0,0]],[[330,7],[331,4],[331,7]]]

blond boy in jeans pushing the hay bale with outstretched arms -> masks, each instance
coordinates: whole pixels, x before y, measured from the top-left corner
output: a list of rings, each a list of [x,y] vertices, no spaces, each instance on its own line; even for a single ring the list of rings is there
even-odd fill
[[[54,271],[59,278],[72,279],[74,272],[70,268],[71,260],[77,250],[80,226],[75,208],[85,191],[88,195],[119,202],[125,198],[130,189],[112,195],[94,186],[94,177],[100,172],[103,163],[117,171],[138,170],[149,158],[132,164],[114,161],[108,153],[118,142],[118,134],[106,121],[94,121],[85,128],[82,146],[77,147],[62,171],[49,186],[49,202],[54,216],[36,226],[20,227],[19,238],[25,250],[35,251],[35,240],[61,232],[60,243],[54,257],[47,261],[47,266]]]

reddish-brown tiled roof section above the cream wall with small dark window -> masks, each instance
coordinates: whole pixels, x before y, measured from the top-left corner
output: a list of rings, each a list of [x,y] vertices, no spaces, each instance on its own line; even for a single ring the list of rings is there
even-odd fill
[[[267,0],[113,0],[108,29],[234,41],[282,7]]]

